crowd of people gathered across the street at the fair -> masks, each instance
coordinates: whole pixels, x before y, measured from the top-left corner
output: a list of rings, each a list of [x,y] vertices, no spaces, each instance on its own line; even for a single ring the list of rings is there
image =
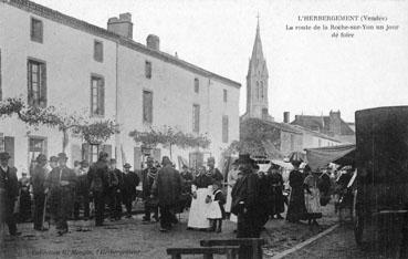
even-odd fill
[[[0,153],[0,191],[4,197],[0,200],[0,207],[4,208],[0,219],[7,222],[12,236],[20,235],[13,217],[18,197],[20,220],[32,215],[34,229],[48,230],[44,221],[49,210],[57,234],[62,236],[69,231],[67,220],[77,220],[81,211],[84,220],[94,217],[95,227],[103,226],[106,218],[112,221],[123,216],[130,218],[136,187],[142,184],[143,221],[159,221],[160,231],[171,230],[172,225],[178,224],[176,214],[187,208],[188,230],[221,232],[222,221],[228,218],[237,224],[238,238],[257,238],[268,220],[284,219],[285,204],[287,221],[308,220],[310,225],[317,225],[322,206],[328,204],[332,195],[328,174],[312,172],[308,166],[302,172],[302,162],[293,160],[287,199],[282,168],[272,164],[262,172],[249,154],[241,154],[231,164],[226,179],[216,168],[213,157],[208,158],[207,168],[198,166],[197,172],[186,165],[178,172],[167,156],[163,157],[161,165],[147,157],[146,168],[138,175],[130,170],[129,164],[125,164],[122,172],[116,160],[102,152],[96,163],[75,162],[73,169],[66,166],[64,153],[50,159],[40,154],[30,172],[31,177],[25,174],[18,180],[17,169],[9,166],[9,158],[8,153]],[[346,182],[344,178],[342,182]]]

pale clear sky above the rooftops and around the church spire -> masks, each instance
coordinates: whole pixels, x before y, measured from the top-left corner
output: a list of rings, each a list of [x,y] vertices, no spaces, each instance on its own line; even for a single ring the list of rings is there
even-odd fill
[[[107,19],[130,12],[134,40],[160,38],[160,50],[242,84],[257,17],[269,69],[269,110],[328,115],[354,122],[357,110],[408,104],[407,0],[34,0],[65,14],[106,28]],[[300,22],[299,15],[380,15],[386,22]],[[286,30],[286,25],[391,24],[393,31],[359,30],[353,38],[333,31]]]

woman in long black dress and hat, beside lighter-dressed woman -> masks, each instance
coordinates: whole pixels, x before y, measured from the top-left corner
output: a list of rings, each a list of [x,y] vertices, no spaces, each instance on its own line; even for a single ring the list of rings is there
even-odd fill
[[[293,170],[289,174],[289,185],[291,186],[291,196],[289,199],[289,207],[286,220],[290,222],[299,222],[299,220],[306,219],[306,206],[304,203],[304,178],[299,169],[301,160],[293,160]]]

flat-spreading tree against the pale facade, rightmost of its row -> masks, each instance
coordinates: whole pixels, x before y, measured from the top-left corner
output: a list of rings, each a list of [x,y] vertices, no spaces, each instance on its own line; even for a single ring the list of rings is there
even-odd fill
[[[170,152],[170,157],[172,156],[172,146],[175,145],[180,148],[207,148],[211,143],[206,135],[196,136],[178,130],[174,130],[169,126],[165,126],[161,131],[155,130],[153,127],[150,127],[150,131],[147,132],[139,132],[135,130],[129,133],[129,136],[133,137],[136,143],[150,148],[156,147],[158,144],[161,144],[164,147],[168,147]]]

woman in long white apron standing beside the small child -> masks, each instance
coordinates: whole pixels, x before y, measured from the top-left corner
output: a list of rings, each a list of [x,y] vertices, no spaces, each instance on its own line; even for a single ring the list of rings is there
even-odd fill
[[[207,218],[210,204],[206,203],[206,198],[212,195],[212,178],[206,175],[205,167],[199,168],[199,175],[191,185],[191,193],[192,200],[187,229],[207,230],[210,227],[210,220]]]

